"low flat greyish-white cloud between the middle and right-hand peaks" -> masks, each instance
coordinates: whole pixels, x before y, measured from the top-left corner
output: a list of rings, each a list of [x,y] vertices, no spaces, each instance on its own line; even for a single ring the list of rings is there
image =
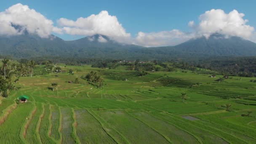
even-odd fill
[[[151,33],[139,32],[134,44],[146,47],[177,45],[191,38],[193,38],[193,34],[184,33],[178,29]]]

